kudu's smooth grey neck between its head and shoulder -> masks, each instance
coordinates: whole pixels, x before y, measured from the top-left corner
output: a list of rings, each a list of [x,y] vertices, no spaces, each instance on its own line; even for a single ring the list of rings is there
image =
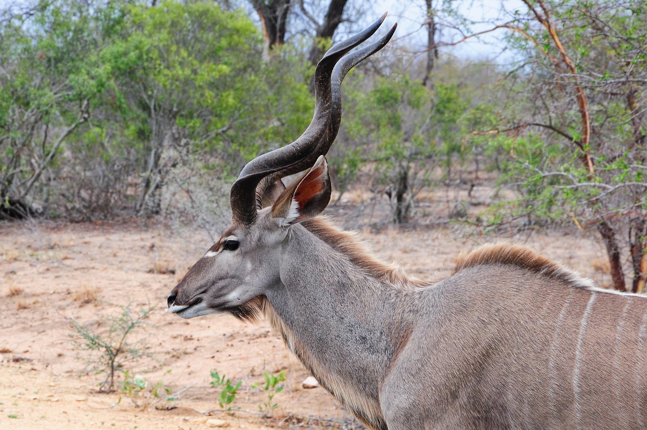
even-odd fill
[[[302,225],[291,229],[281,246],[281,284],[267,295],[270,321],[323,387],[369,411],[411,332],[417,300],[367,276]]]

